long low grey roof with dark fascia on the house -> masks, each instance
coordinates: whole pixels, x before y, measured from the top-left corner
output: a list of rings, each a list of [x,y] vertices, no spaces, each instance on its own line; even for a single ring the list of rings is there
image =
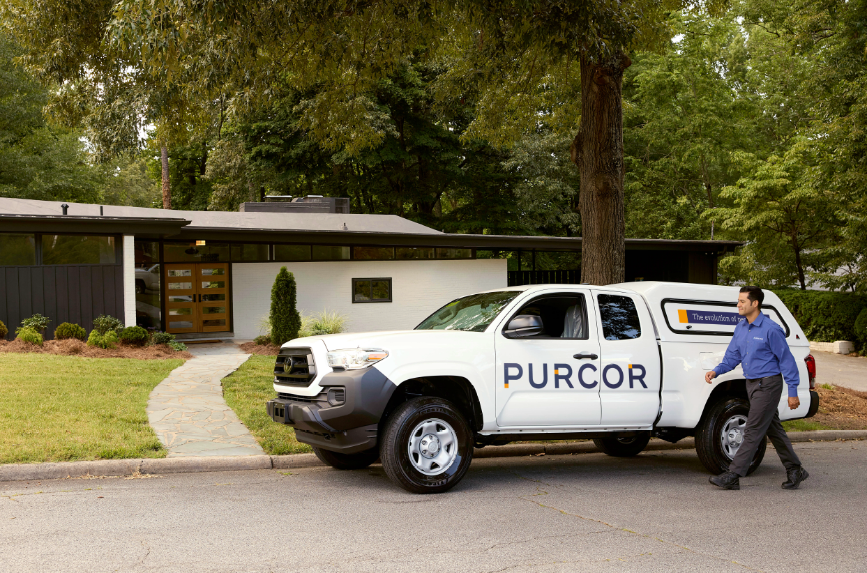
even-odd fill
[[[128,233],[168,240],[581,251],[580,237],[444,233],[397,215],[211,212],[0,198],[0,231]],[[100,215],[102,206],[103,215]],[[629,251],[733,250],[740,241],[627,238]]]

